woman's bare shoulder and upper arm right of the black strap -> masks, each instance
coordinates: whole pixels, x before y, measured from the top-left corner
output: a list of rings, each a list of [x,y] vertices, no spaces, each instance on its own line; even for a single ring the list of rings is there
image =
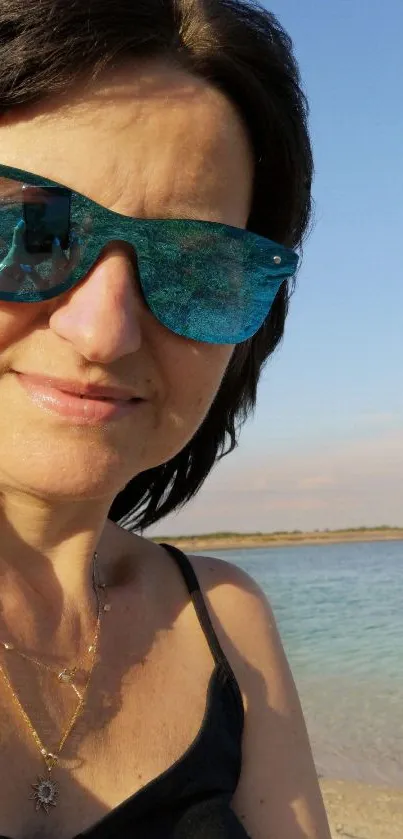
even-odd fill
[[[254,839],[330,839],[303,711],[268,597],[231,562],[189,559],[246,711],[235,812]]]

